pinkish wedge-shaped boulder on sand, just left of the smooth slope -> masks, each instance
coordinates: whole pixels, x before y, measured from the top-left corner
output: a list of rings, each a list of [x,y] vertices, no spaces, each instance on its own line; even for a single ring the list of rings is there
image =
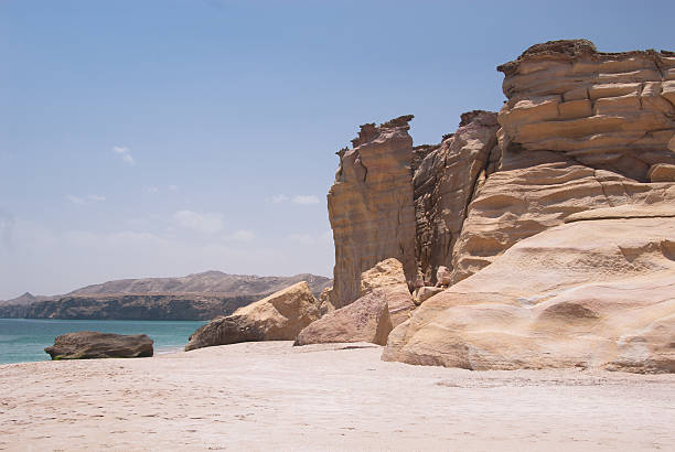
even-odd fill
[[[375,289],[311,323],[300,332],[293,345],[339,342],[385,345],[393,327],[387,294],[384,289]]]

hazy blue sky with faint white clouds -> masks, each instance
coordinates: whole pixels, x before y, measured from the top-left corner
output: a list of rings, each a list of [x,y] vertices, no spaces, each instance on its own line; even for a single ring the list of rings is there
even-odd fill
[[[675,2],[0,0],[0,299],[119,278],[332,276],[358,125],[499,110],[529,45],[675,50]]]

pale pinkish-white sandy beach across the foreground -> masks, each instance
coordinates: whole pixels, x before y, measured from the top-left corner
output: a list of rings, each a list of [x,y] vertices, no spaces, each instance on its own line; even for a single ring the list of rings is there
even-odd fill
[[[362,345],[0,366],[0,449],[675,450],[675,375],[418,367]]]

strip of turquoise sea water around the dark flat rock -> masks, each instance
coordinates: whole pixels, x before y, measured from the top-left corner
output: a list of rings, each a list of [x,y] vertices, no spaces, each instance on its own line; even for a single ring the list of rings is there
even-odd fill
[[[188,337],[206,322],[135,321],[135,320],[43,320],[0,319],[0,364],[46,360],[44,347],[54,337],[75,331],[147,334],[154,341],[154,354],[181,349]]]

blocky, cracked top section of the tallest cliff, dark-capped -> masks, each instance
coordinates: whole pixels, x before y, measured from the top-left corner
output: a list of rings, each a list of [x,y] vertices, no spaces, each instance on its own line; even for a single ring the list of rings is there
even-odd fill
[[[499,116],[506,166],[513,153],[553,151],[644,182],[651,165],[675,164],[675,53],[555,41],[497,69],[508,98]]]

